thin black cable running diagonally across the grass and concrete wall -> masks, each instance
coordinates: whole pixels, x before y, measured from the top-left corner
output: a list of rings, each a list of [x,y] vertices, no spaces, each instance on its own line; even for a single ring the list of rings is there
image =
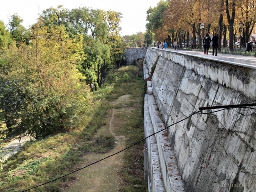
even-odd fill
[[[70,173],[68,173],[68,174],[66,174],[66,175],[63,175],[63,176],[61,176],[61,177],[59,177],[59,178],[57,178],[57,179],[50,180],[50,181],[48,181],[48,182],[46,182],[46,183],[43,183],[43,184],[41,184],[41,185],[37,185],[37,186],[35,186],[35,187],[33,187],[33,188],[29,188],[29,189],[26,189],[26,190],[20,191],[20,192],[25,192],[25,191],[28,191],[28,190],[31,190],[31,189],[34,189],[34,188],[43,186],[43,185],[45,185],[45,184],[47,184],[47,183],[56,181],[56,180],[58,180],[58,179],[61,179],[61,178],[63,178],[63,177],[66,177],[66,176],[68,176],[68,175],[70,175],[70,174],[72,174],[72,173],[74,173],[74,172],[80,171],[80,170],[82,170],[82,169],[84,169],[84,168],[86,168],[86,167],[89,167],[89,166],[91,166],[91,165],[93,165],[93,164],[96,164],[96,163],[98,163],[98,162],[100,162],[100,161],[102,161],[102,160],[104,160],[104,159],[107,159],[108,157],[111,157],[111,156],[114,156],[114,155],[116,155],[116,154],[118,154],[118,153],[121,153],[122,151],[124,151],[124,150],[126,150],[126,149],[128,149],[128,148],[131,148],[132,146],[136,145],[137,143],[139,143],[139,142],[141,142],[141,141],[143,141],[143,140],[145,140],[145,139],[148,139],[149,137],[155,135],[156,133],[162,132],[162,131],[164,131],[165,129],[167,129],[167,128],[169,128],[169,127],[175,125],[175,124],[178,124],[178,123],[180,123],[180,122],[182,122],[182,121],[188,119],[189,117],[191,117],[191,116],[193,116],[193,115],[196,115],[197,113],[201,113],[201,114],[210,114],[210,113],[215,113],[215,112],[219,112],[219,111],[223,111],[223,110],[227,110],[227,109],[231,109],[231,108],[249,108],[249,107],[230,107],[230,108],[224,108],[224,109],[220,109],[220,110],[218,110],[218,111],[211,111],[211,112],[207,112],[207,113],[203,113],[202,110],[194,111],[193,114],[191,114],[190,116],[188,116],[188,117],[186,117],[186,118],[184,118],[184,119],[182,119],[182,120],[180,120],[180,121],[178,121],[178,122],[176,122],[176,123],[174,123],[174,124],[171,124],[170,126],[165,127],[164,129],[162,129],[162,130],[160,130],[160,131],[158,131],[158,132],[155,132],[155,133],[153,133],[152,135],[149,135],[148,137],[145,137],[145,138],[142,139],[142,140],[137,141],[136,143],[130,145],[130,146],[127,147],[127,148],[122,149],[121,151],[118,151],[118,152],[116,152],[116,153],[114,153],[114,154],[112,154],[112,155],[110,155],[110,156],[107,156],[107,157],[105,157],[105,158],[103,158],[103,159],[100,159],[99,161],[96,161],[96,162],[94,162],[94,163],[92,163],[92,164],[89,164],[89,165],[87,165],[87,166],[85,166],[85,167],[82,167],[82,168],[77,169],[77,170],[75,170],[75,171],[73,171],[73,172],[70,172]],[[249,109],[255,109],[255,110],[256,110],[256,108],[249,108]]]

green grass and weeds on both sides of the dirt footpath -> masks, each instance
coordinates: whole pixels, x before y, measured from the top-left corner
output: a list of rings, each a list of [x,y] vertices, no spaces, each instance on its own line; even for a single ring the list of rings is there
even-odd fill
[[[113,148],[114,138],[111,134],[95,136],[96,132],[106,124],[104,116],[111,107],[109,101],[124,94],[131,94],[133,99],[142,103],[143,80],[137,77],[138,74],[138,69],[134,66],[121,68],[110,74],[109,84],[103,85],[102,89],[94,92],[95,105],[86,112],[84,120],[80,122],[80,128],[32,141],[18,154],[9,158],[0,173],[0,190],[14,192],[37,186],[80,168],[82,157],[89,152],[110,151]],[[98,102],[99,100],[101,101]],[[141,110],[136,111],[131,120],[123,125],[124,129],[119,130],[120,134],[127,138],[126,146],[144,136],[143,116]],[[120,191],[146,191],[146,186],[134,187],[134,184],[144,182],[143,142],[124,152],[124,166],[119,174],[124,182]],[[74,174],[71,174],[38,187],[34,191],[61,191],[61,188],[74,179]]]

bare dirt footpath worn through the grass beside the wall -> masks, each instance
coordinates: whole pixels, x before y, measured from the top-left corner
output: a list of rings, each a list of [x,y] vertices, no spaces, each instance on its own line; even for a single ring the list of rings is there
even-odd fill
[[[119,97],[117,100],[113,101],[111,105],[114,107],[115,105],[124,106],[123,108],[118,109],[110,109],[108,111],[108,115],[106,116],[106,126],[100,128],[98,134],[102,134],[104,132],[111,132],[115,139],[116,145],[115,148],[109,153],[105,154],[89,154],[84,156],[84,164],[82,166],[86,166],[95,161],[98,161],[106,156],[110,156],[118,151],[121,151],[125,148],[124,140],[125,138],[122,135],[116,134],[115,130],[120,126],[120,122],[118,121],[118,115],[122,113],[127,113],[132,108],[127,108],[126,103],[132,101],[130,99],[131,95],[123,95]],[[127,115],[127,118],[128,115]],[[122,161],[123,161],[123,152],[118,153],[117,155],[111,156],[103,161],[100,161],[97,164],[93,164],[87,168],[82,169],[81,171],[75,173],[77,180],[70,183],[70,186],[65,189],[66,192],[77,192],[77,191],[85,191],[85,192],[95,192],[95,191],[106,191],[113,192],[118,191],[119,186],[122,184],[121,179],[119,178],[117,172],[121,169]]]

